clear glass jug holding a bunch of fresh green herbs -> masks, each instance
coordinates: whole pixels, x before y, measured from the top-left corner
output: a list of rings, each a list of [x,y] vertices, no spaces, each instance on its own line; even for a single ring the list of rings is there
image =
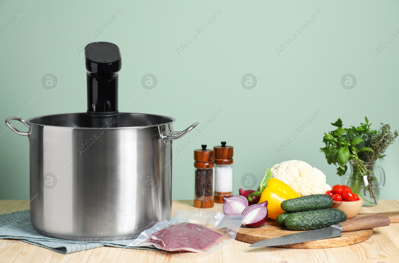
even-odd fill
[[[344,177],[353,193],[363,199],[363,207],[372,207],[379,201],[379,193],[385,184],[385,173],[375,161],[383,160],[385,150],[398,136],[398,131],[391,132],[389,124],[381,123],[379,129],[371,129],[371,123],[365,117],[360,126],[343,128],[342,120],[331,123],[336,130],[324,133],[324,148],[328,164],[337,167],[339,176],[345,175],[350,164],[350,174]],[[375,174],[379,171],[379,176]]]

